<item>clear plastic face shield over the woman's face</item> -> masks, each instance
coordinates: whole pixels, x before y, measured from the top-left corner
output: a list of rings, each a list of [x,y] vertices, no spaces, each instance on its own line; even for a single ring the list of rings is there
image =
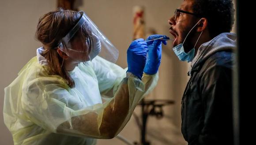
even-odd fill
[[[82,17],[60,40],[58,48],[70,58],[80,62],[92,60],[99,55],[105,60],[115,63],[119,54],[116,47],[83,11],[79,11],[79,14]],[[81,31],[82,29],[86,30],[88,34],[82,33],[84,32]]]

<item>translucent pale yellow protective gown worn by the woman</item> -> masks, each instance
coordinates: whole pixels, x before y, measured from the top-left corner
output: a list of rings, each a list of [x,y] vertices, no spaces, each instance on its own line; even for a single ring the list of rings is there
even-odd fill
[[[4,90],[4,123],[15,145],[95,145],[96,138],[113,138],[158,80],[158,74],[125,77],[125,69],[98,56],[70,72],[74,88],[48,72],[38,53]]]

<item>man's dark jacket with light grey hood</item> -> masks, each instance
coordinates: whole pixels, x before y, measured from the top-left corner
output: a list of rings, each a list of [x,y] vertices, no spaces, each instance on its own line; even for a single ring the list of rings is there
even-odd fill
[[[181,131],[188,145],[233,145],[232,70],[236,35],[203,43],[182,97]]]

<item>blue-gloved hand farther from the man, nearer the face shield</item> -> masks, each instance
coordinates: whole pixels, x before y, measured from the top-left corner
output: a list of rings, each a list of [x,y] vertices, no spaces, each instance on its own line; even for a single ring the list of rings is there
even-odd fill
[[[147,43],[142,38],[132,41],[127,50],[128,70],[140,80],[147,59]]]

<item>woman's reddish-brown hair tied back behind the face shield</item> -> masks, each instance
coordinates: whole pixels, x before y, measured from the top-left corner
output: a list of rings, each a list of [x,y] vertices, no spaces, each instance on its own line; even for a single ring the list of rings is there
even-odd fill
[[[75,26],[82,16],[77,11],[59,9],[43,15],[38,22],[36,38],[43,44],[42,56],[48,62],[50,75],[59,75],[66,80],[69,87],[75,87],[75,82],[68,71],[62,67],[63,58],[55,49],[60,40]],[[90,37],[86,25],[80,29],[85,37]],[[76,37],[76,35],[74,36]],[[73,37],[73,38],[74,38]],[[72,39],[73,39],[72,38]],[[91,39],[89,39],[91,40]],[[90,48],[90,47],[89,47]],[[89,50],[90,51],[90,50]]]

